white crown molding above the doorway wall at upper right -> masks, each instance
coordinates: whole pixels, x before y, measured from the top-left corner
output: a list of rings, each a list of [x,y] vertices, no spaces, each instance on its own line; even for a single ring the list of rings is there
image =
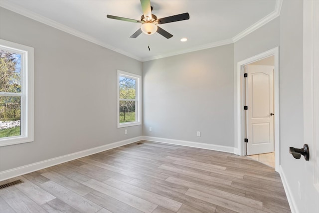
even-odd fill
[[[253,25],[251,25],[250,27],[248,27],[244,31],[242,31],[239,34],[237,34],[236,36],[234,36],[232,38],[233,42],[235,43],[236,41],[238,41],[241,38],[245,37],[249,33],[255,31],[256,29],[258,29],[260,27],[262,27],[263,25],[265,25],[269,21],[277,18],[280,15],[282,4],[283,4],[283,0],[276,0],[275,10],[273,12],[269,13],[264,18],[260,19],[259,21],[257,21],[256,23],[254,23]]]

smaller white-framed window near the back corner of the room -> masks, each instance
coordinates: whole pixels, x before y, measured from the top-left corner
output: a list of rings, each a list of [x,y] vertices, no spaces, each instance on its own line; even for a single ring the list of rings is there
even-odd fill
[[[141,76],[118,70],[118,128],[141,123]]]

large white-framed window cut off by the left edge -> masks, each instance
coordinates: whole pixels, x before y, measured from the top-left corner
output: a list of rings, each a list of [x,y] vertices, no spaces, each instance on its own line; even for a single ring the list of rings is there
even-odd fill
[[[33,48],[0,39],[0,146],[33,141]]]

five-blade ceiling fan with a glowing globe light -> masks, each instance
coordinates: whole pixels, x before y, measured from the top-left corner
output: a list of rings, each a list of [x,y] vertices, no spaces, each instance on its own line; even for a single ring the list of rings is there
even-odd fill
[[[142,26],[138,31],[136,31],[130,38],[138,37],[142,32],[145,34],[154,34],[155,32],[160,33],[165,38],[171,38],[173,35],[167,32],[166,30],[160,28],[158,24],[169,23],[174,21],[181,21],[189,19],[188,12],[172,15],[164,18],[158,18],[156,15],[152,14],[153,7],[151,6],[150,0],[141,0],[143,15],[141,16],[141,20],[135,20],[131,18],[123,18],[114,15],[107,15],[108,18],[113,18],[117,20],[130,21],[135,23],[142,23]]]

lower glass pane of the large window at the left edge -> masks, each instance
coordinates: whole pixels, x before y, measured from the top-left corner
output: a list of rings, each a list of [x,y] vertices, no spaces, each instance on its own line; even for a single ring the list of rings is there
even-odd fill
[[[0,96],[0,138],[21,135],[21,97]]]

